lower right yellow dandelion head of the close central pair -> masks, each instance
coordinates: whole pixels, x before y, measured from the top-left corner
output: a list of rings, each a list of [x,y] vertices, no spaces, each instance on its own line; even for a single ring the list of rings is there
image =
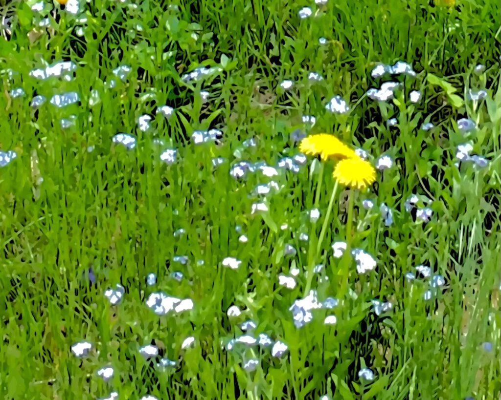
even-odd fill
[[[376,170],[369,161],[356,156],[339,161],[333,176],[339,183],[364,189],[376,180]]]

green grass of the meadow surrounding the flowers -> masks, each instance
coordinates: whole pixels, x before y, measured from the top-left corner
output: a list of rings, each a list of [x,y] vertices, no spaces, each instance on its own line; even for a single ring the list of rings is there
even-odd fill
[[[74,17],[56,4],[57,18],[33,42],[31,3],[4,3],[2,13],[14,15],[14,26],[9,40],[0,38],[0,149],[19,155],[0,168],[4,398],[91,399],[112,390],[121,399],[147,393],[162,399],[499,397],[497,1],[457,0],[447,8],[414,0],[330,0],[320,16],[300,20],[299,9],[315,10],[313,1],[177,1],[175,9],[167,1],[138,1],[132,8],[94,0],[85,5],[83,37],[75,34]],[[318,43],[321,36],[327,45]],[[29,76],[43,60],[60,59],[78,64],[74,80]],[[393,101],[368,99],[364,93],[379,83],[371,69],[399,59],[411,63],[417,77],[396,78],[405,90]],[[473,73],[477,63],[486,65],[480,75]],[[106,88],[121,64],[132,67],[129,78]],[[180,76],[200,64],[222,64],[223,70],[201,83],[182,82]],[[12,79],[8,68],[17,72]],[[309,71],[325,80],[311,84]],[[281,92],[283,79],[295,80],[290,92]],[[24,98],[10,97],[17,87]],[[487,98],[466,100],[470,87],[486,89]],[[91,89],[101,98],[93,107]],[[422,91],[421,102],[408,101],[410,89]],[[210,92],[205,104],[200,90]],[[82,105],[59,109],[47,102],[35,115],[32,95],[63,91],[78,91]],[[349,114],[325,110],[336,94],[350,100]],[[169,121],[157,115],[152,132],[138,131],[137,117],[165,103],[175,115]],[[59,119],[70,114],[77,115],[75,126],[62,129]],[[378,172],[376,191],[340,186],[320,253],[315,249],[334,186],[332,162],[320,174],[309,157],[300,173],[278,177],[284,188],[268,197],[263,216],[250,214],[256,199],[249,194],[269,179],[229,175],[240,159],[275,164],[296,154],[290,134],[304,128],[303,114],[317,117],[308,132],[335,133],[365,148],[372,161],[382,153],[396,160]],[[469,136],[455,122],[466,115],[479,126]],[[392,116],[398,126],[390,130]],[[437,127],[419,129],[428,120]],[[188,140],[193,130],[212,127],[223,130],[221,145]],[[134,150],[112,145],[120,131],[137,134]],[[153,137],[178,149],[177,163],[159,160],[163,148]],[[257,147],[243,148],[250,137]],[[488,167],[454,165],[457,144],[467,140],[490,160]],[[214,170],[215,156],[228,161]],[[433,200],[434,215],[425,225],[404,209],[412,193]],[[355,203],[353,246],[378,260],[377,270],[365,275],[357,274],[351,258],[333,258],[330,248],[348,233],[348,194]],[[364,198],[375,200],[376,208],[364,210]],[[392,226],[383,224],[382,202],[393,210]],[[307,210],[315,204],[321,218],[312,224]],[[284,223],[289,228],[282,230]],[[247,243],[238,241],[237,225]],[[179,228],[186,235],[174,237]],[[301,232],[310,242],[299,241]],[[287,243],[298,249],[296,256],[284,256]],[[187,255],[189,264],[172,262],[175,255]],[[221,267],[226,256],[242,266]],[[341,299],[337,324],[324,325],[326,311],[315,310],[313,321],[298,329],[289,307],[304,294],[308,265],[318,262],[326,264],[329,279],[315,277],[312,287],[320,299]],[[421,263],[446,280],[432,300],[423,298],[425,282],[410,284],[404,277]],[[96,285],[85,276],[90,266]],[[279,286],[278,275],[294,266],[301,270],[296,288]],[[169,276],[175,270],[184,273],[181,282]],[[145,284],[149,272],[158,274],[155,287]],[[113,307],[104,290],[118,282],[126,293]],[[153,290],[190,297],[195,306],[159,317],[145,305]],[[393,310],[376,316],[375,298],[390,300]],[[226,316],[233,304],[246,309],[236,321]],[[256,332],[287,343],[288,354],[278,359],[269,350],[223,349],[221,343],[241,334],[238,322],[245,319],[256,321]],[[196,346],[181,350],[190,335]],[[83,360],[70,351],[82,339],[98,350]],[[140,356],[138,347],[152,339],[178,360],[177,367],[160,371]],[[491,351],[484,342],[492,343]],[[242,361],[252,356],[260,366],[246,372]],[[109,383],[95,374],[106,364],[115,368]],[[359,379],[364,366],[375,372],[373,382]]]

